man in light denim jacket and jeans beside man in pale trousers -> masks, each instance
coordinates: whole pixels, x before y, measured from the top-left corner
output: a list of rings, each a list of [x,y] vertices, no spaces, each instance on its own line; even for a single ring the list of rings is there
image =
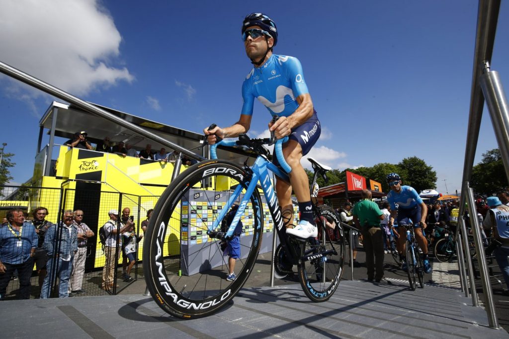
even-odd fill
[[[51,281],[58,277],[59,298],[69,296],[69,278],[71,276],[72,259],[78,252],[78,238],[76,228],[72,225],[74,214],[72,210],[64,211],[63,221],[58,227],[52,225],[46,232],[43,247],[48,253],[48,274],[42,284],[41,299],[49,298]]]

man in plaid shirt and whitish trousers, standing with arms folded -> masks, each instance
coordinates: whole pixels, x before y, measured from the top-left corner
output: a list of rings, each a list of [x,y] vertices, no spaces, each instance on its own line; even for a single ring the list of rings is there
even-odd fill
[[[81,209],[76,209],[74,211],[73,225],[77,231],[78,252],[76,252],[74,260],[72,261],[71,284],[69,290],[72,294],[82,294],[87,292],[81,288],[83,284],[83,273],[85,271],[85,260],[87,259],[87,238],[93,237],[94,232],[92,232],[87,224],[83,223],[83,211]]]

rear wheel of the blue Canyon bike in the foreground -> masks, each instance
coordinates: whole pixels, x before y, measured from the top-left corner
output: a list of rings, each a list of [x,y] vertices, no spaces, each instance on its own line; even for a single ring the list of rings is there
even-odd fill
[[[301,242],[301,257],[318,254],[323,251],[335,251],[323,258],[309,261],[300,260],[298,265],[298,277],[302,290],[306,296],[315,302],[327,301],[337,286],[340,284],[345,263],[345,233],[340,224],[340,218],[329,206],[318,207],[319,215],[315,215],[315,222],[318,227],[318,237],[308,238]],[[321,218],[323,217],[323,218]],[[329,232],[325,226],[325,220],[334,222],[340,234],[340,239],[331,241]]]

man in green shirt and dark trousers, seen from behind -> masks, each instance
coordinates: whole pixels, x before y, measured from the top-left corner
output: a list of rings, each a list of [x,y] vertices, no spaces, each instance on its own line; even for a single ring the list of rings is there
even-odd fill
[[[361,197],[362,200],[353,208],[353,221],[362,233],[362,243],[366,252],[367,280],[380,283],[383,279],[384,259],[380,221],[384,219],[384,215],[378,205],[371,201],[369,190],[362,190]],[[383,280],[383,282],[387,281]]]

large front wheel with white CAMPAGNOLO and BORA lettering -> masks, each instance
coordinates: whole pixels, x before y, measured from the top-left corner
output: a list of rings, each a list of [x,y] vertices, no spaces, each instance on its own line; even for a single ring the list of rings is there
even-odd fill
[[[223,207],[221,203],[216,205],[221,208],[209,209],[209,204],[228,201],[235,186],[245,189],[247,176],[244,169],[228,161],[198,163],[175,178],[157,201],[145,233],[143,268],[147,288],[165,312],[183,319],[208,316],[225,306],[248,279],[263,233],[263,207],[258,190],[251,195],[251,208],[246,207],[248,213],[241,219],[246,227],[246,215],[252,217],[249,233],[253,236],[250,239],[243,233],[239,238],[241,258],[236,261],[238,275],[234,281],[225,280],[229,274],[228,257],[220,250],[220,240],[206,236],[210,215],[212,220],[218,219]],[[210,187],[206,188],[207,185]],[[206,201],[206,220],[203,204],[195,205],[190,197]],[[220,225],[219,221],[218,228]],[[184,230],[188,233],[184,234]],[[202,237],[201,243],[198,236]],[[178,254],[170,256],[172,249]]]

